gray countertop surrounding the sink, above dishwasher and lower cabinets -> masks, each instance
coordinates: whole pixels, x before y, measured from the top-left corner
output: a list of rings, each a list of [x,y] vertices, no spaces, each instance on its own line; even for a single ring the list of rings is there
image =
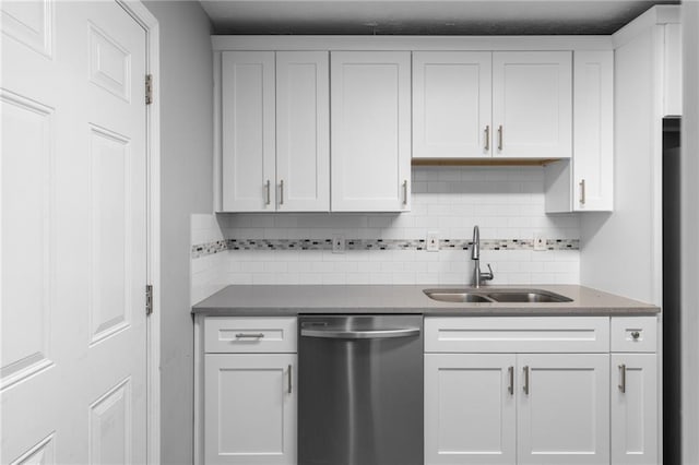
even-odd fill
[[[655,314],[655,306],[574,285],[497,286],[534,288],[572,299],[560,303],[451,303],[428,298],[435,285],[234,285],[192,308],[211,315],[296,315],[299,313],[423,313],[430,315],[632,315]],[[496,286],[493,286],[494,288]],[[488,287],[482,288],[486,290]]]

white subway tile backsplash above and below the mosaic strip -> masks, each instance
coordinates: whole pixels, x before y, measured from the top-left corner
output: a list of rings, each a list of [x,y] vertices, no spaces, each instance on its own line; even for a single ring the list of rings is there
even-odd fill
[[[531,250],[535,234],[549,241],[578,239],[577,215],[544,213],[541,167],[413,168],[412,211],[403,214],[228,214],[192,217],[192,246],[235,239],[441,239],[471,240],[479,225],[482,269],[493,284],[578,284],[578,250]],[[494,250],[494,239],[509,243]],[[572,241],[577,246],[577,241]],[[566,243],[556,248],[565,247]],[[552,245],[552,247],[554,247]],[[471,251],[425,250],[239,250],[192,259],[192,302],[227,284],[434,284],[465,285]],[[517,249],[517,250],[512,250]],[[197,254],[196,254],[197,255]]]

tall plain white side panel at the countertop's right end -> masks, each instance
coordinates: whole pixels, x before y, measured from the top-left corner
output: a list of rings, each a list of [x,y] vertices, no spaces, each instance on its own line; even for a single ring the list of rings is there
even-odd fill
[[[615,51],[614,212],[588,213],[580,222],[581,284],[655,305],[662,284],[659,27]]]

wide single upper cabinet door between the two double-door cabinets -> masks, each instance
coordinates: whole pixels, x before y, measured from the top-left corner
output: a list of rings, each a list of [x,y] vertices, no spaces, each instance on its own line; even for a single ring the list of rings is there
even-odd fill
[[[332,210],[410,210],[410,51],[336,51],[330,68]]]

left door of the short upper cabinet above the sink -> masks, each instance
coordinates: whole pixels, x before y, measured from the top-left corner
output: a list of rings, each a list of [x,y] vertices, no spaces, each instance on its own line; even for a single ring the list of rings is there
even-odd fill
[[[413,157],[490,156],[489,51],[413,52]]]

